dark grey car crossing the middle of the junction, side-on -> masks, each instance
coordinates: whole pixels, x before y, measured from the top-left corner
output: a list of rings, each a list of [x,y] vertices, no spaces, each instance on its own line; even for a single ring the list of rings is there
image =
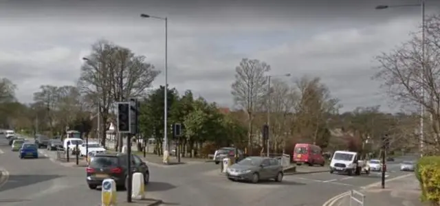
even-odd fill
[[[246,157],[231,165],[226,171],[226,176],[232,181],[251,181],[252,183],[267,179],[281,182],[283,175],[283,166],[270,157]]]

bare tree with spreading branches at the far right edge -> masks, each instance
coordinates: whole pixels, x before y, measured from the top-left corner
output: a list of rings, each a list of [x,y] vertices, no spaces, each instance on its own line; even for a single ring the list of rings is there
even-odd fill
[[[423,56],[422,41],[418,34],[393,50],[376,56],[379,62],[377,80],[393,100],[406,108],[422,105],[432,117],[426,121],[430,133],[423,140],[428,148],[440,152],[440,16],[426,20],[426,41]],[[423,118],[425,118],[423,116]],[[418,138],[419,136],[415,136]],[[421,139],[418,139],[419,141]]]

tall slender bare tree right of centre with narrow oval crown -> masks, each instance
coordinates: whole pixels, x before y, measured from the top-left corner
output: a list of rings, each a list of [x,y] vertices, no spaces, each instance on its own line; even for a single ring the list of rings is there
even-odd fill
[[[259,60],[243,58],[235,69],[235,81],[232,83],[234,102],[248,113],[248,148],[252,154],[252,121],[254,111],[263,106],[267,94],[267,77],[265,72],[270,71],[270,65]]]

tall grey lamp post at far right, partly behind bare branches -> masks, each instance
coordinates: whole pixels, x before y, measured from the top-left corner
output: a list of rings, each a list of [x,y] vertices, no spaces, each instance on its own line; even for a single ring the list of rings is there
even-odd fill
[[[421,80],[425,77],[425,60],[426,60],[426,49],[425,49],[425,41],[426,41],[426,26],[425,26],[425,0],[421,0],[420,3],[412,3],[412,4],[400,4],[400,5],[377,5],[376,10],[384,10],[388,8],[400,8],[400,7],[420,7],[421,8]],[[425,101],[425,89],[421,87],[421,98],[422,102]],[[425,115],[425,107],[423,104],[420,104],[420,125],[419,125],[419,133],[420,133],[420,156],[423,156],[423,116]]]

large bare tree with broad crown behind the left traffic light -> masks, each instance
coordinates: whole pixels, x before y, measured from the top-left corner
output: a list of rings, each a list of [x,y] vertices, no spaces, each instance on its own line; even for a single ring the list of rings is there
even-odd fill
[[[96,106],[100,102],[102,122],[107,122],[113,102],[139,98],[151,87],[159,71],[145,60],[145,56],[136,56],[130,49],[108,41],[98,41],[92,47],[82,68],[80,85],[83,93],[95,96]],[[118,138],[115,147],[122,150],[122,138]]]

